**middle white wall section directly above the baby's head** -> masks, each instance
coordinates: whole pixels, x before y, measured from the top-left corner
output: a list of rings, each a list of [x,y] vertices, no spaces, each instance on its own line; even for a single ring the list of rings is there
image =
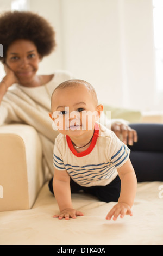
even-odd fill
[[[92,83],[99,101],[122,105],[118,0],[61,2],[65,69]]]

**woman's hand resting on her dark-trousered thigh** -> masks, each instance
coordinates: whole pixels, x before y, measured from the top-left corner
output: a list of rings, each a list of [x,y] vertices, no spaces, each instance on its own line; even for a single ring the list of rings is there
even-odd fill
[[[124,144],[132,146],[137,142],[137,132],[131,129],[127,124],[115,122],[111,125],[111,130],[120,138]]]

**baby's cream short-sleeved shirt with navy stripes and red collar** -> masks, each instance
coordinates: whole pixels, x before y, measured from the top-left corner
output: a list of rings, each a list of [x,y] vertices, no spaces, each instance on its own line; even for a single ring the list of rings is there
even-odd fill
[[[89,148],[80,153],[69,136],[59,134],[55,139],[53,165],[66,170],[81,186],[105,186],[116,178],[117,168],[129,159],[129,153],[129,148],[114,132],[96,124]]]

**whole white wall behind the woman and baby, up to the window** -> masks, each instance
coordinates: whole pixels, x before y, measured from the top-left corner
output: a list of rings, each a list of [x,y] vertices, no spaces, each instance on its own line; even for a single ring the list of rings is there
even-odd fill
[[[40,73],[66,69],[92,83],[100,102],[156,109],[152,0],[29,1],[58,44]]]

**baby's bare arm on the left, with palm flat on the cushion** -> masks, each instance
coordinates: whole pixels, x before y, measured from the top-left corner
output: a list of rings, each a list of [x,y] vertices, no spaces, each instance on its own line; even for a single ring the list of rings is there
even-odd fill
[[[73,209],[70,176],[66,170],[60,171],[54,169],[53,191],[60,210],[60,214],[54,215],[53,217],[58,217],[59,219],[65,218],[68,220],[70,217],[76,218],[76,216],[83,216],[82,212]]]

